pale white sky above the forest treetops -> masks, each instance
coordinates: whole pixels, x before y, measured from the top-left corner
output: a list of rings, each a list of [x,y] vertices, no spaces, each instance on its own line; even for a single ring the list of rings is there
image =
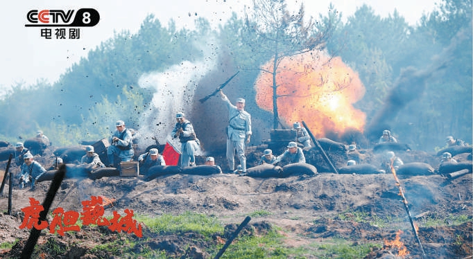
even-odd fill
[[[371,6],[377,15],[387,17],[394,10],[406,19],[408,24],[415,26],[422,14],[433,10],[440,0],[287,0],[289,8],[304,3],[306,16],[318,18],[320,13],[326,14],[329,3],[342,12],[346,19],[363,3]],[[87,53],[94,50],[101,42],[105,42],[123,30],[136,33],[145,17],[155,15],[162,26],[168,25],[173,19],[178,28],[193,29],[198,17],[205,17],[217,28],[231,15],[242,17],[245,8],[249,8],[251,0],[25,0],[2,1],[0,8],[3,15],[1,22],[1,59],[0,59],[0,96],[11,89],[12,85],[35,84],[38,80],[46,80],[53,84],[60,75],[65,73],[72,64]],[[30,10],[78,10],[94,8],[100,14],[100,21],[93,27],[81,27],[79,39],[44,39],[40,28],[26,27],[26,15]],[[53,28],[54,31],[54,28]]]

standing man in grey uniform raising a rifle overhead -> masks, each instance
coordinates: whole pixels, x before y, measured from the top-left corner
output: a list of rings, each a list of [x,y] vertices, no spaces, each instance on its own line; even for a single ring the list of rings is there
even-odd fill
[[[245,111],[245,99],[238,98],[236,105],[228,100],[227,96],[220,90],[222,100],[227,103],[228,120],[227,126],[227,161],[230,172],[235,169],[235,151],[239,158],[241,170],[246,172],[245,144],[250,143],[251,138],[251,116]]]

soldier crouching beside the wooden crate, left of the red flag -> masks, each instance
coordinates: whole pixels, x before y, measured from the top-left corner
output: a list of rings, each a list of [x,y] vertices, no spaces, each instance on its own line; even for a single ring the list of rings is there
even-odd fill
[[[131,161],[134,151],[133,151],[133,143],[132,143],[132,134],[128,131],[125,127],[125,122],[123,120],[118,120],[115,123],[117,127],[117,131],[112,134],[110,138],[111,145],[107,148],[107,156],[109,165],[108,167],[114,167],[114,159],[115,157],[119,158],[119,162],[123,161]]]

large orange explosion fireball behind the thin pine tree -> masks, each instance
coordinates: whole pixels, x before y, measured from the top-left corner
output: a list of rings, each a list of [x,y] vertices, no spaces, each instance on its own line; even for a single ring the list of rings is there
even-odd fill
[[[273,61],[262,69],[273,71]],[[277,110],[285,123],[304,120],[316,137],[363,131],[365,114],[352,105],[363,97],[365,87],[340,57],[321,52],[286,57],[278,66],[276,84]],[[273,111],[273,75],[262,72],[255,88],[257,105]]]

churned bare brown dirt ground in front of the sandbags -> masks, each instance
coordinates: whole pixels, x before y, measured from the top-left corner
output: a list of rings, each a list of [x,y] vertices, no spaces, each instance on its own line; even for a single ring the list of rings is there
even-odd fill
[[[21,254],[30,234],[28,229],[19,229],[24,215],[22,208],[30,205],[30,197],[43,202],[50,184],[51,181],[42,181],[35,190],[12,190],[12,215],[0,215],[0,243],[18,242],[12,249],[0,251],[1,258],[18,258]],[[472,258],[472,174],[454,179],[436,174],[420,175],[401,179],[400,184],[411,215],[419,226],[418,235],[425,258]],[[8,208],[6,195],[8,186],[0,199],[3,212]],[[230,174],[179,174],[157,177],[151,181],[143,181],[143,176],[65,179],[51,210],[62,207],[65,211],[82,211],[81,202],[91,196],[115,199],[111,207],[105,208],[105,215],[112,215],[112,211],[124,214],[127,208],[132,209],[135,215],[151,217],[192,211],[217,217],[229,231],[234,230],[246,215],[266,211],[269,215],[252,217],[249,225],[255,233],[264,233],[271,226],[281,227],[282,233],[288,237],[288,247],[311,249],[310,244],[334,237],[351,240],[354,244],[383,244],[386,240],[395,240],[401,229],[400,241],[409,252],[404,258],[422,258],[392,174],[337,175],[319,172],[313,177],[264,179]],[[360,212],[383,220],[386,226],[359,222],[355,217]],[[341,215],[344,215],[343,219]],[[422,224],[427,220],[448,219],[455,215],[470,215],[470,221],[454,225],[446,220],[437,227]],[[143,235],[149,247],[163,249],[169,257],[209,258],[207,253],[202,252],[209,244],[197,241],[196,233],[155,235],[144,226]],[[38,246],[55,239],[71,247],[66,254],[55,258],[110,258],[106,253],[92,255],[89,249],[116,238],[119,238],[117,233],[105,227],[83,226],[80,231],[64,236],[43,231]],[[225,242],[227,238],[228,233],[215,235],[214,243]],[[185,250],[184,247],[189,248]],[[366,258],[397,258],[394,256],[397,250],[385,246],[384,249],[372,251]],[[41,257],[52,258],[47,251],[43,251]]]

